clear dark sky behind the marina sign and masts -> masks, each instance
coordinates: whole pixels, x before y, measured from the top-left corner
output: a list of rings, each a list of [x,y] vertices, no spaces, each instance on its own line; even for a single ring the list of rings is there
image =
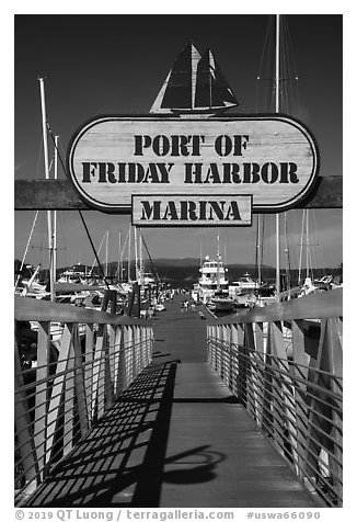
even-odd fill
[[[60,136],[60,150],[77,128],[99,114],[147,114],[180,50],[193,41],[209,47],[239,100],[234,113],[256,112],[257,76],[265,71],[269,14],[18,14],[14,24],[14,170],[15,179],[45,178],[42,155],[39,84],[45,77],[48,124]],[[343,32],[342,15],[289,14],[287,84],[296,92],[295,116],[315,136],[320,175],[343,174]],[[270,37],[270,36],[269,36]],[[298,80],[295,78],[298,77]],[[270,76],[272,78],[272,76]],[[264,86],[269,81],[263,79]],[[260,86],[262,82],[260,83]],[[269,111],[269,107],[267,107]],[[50,148],[50,157],[51,157]],[[51,173],[53,175],[53,173]],[[60,169],[60,178],[65,178]],[[22,259],[35,212],[15,212],[14,257]],[[299,262],[301,211],[289,211],[287,228],[292,265]],[[130,216],[95,211],[84,218],[99,249],[110,234],[110,261],[118,259],[119,231],[125,238]],[[283,219],[283,218],[281,218]],[[254,263],[256,220],[252,228],[220,230],[227,263]],[[311,213],[312,257],[318,266],[342,263],[342,209]],[[284,228],[281,220],[281,229]],[[275,264],[274,216],[265,218],[264,264]],[[199,258],[217,252],[217,229],[153,228],[143,237],[153,259]],[[46,217],[37,218],[26,257],[46,266]],[[281,239],[281,266],[285,259]],[[312,247],[310,247],[312,248]],[[103,260],[104,247],[100,253]],[[58,213],[58,266],[94,261],[77,212]]]

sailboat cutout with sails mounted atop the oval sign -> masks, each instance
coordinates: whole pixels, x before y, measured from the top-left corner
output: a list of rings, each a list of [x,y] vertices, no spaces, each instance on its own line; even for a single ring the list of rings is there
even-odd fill
[[[239,103],[211,53],[191,42],[176,57],[150,113],[215,114]]]

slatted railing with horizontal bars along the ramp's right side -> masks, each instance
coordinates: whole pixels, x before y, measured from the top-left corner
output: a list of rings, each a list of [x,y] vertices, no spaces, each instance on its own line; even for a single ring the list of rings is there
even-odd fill
[[[211,321],[208,362],[316,500],[342,506],[342,288]]]

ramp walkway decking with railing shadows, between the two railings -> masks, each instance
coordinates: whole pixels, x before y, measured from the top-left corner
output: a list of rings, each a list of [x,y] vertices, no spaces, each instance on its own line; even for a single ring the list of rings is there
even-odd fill
[[[206,321],[154,318],[154,359],[27,506],[316,507],[206,363]]]

